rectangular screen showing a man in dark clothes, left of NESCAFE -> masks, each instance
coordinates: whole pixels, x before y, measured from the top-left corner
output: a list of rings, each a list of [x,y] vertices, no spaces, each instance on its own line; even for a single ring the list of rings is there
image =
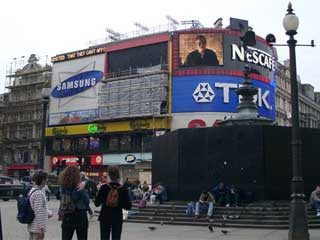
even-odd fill
[[[223,65],[222,33],[179,35],[179,67]]]

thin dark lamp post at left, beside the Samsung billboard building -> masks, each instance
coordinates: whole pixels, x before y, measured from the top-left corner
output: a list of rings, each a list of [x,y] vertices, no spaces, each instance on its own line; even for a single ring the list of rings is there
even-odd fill
[[[40,142],[40,156],[39,156],[39,168],[44,168],[45,160],[45,145],[46,145],[46,126],[47,126],[47,109],[49,104],[50,88],[43,88],[41,92],[42,96],[42,124],[41,124],[41,142]]]

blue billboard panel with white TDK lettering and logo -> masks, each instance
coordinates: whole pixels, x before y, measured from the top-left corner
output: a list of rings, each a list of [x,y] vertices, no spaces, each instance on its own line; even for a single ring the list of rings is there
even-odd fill
[[[226,75],[177,76],[172,79],[172,112],[237,112],[236,89],[243,77]],[[252,79],[258,88],[258,114],[275,119],[275,87]]]

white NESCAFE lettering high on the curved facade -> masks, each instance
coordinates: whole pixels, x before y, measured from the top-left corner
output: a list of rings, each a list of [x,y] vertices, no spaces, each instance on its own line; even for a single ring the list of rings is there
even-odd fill
[[[248,62],[265,67],[270,71],[275,71],[275,60],[270,54],[253,47],[247,47],[245,50],[243,46],[236,44],[231,45],[231,59],[239,60],[241,62]]]

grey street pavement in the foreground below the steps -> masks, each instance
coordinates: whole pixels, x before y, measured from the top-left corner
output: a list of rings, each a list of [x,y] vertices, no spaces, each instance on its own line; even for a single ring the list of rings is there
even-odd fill
[[[61,239],[61,222],[57,219],[59,202],[51,200],[49,208],[54,216],[49,220],[48,231],[45,239]],[[92,205],[93,210],[98,210]],[[0,201],[3,239],[5,240],[27,240],[27,226],[16,220],[17,204],[15,200],[8,202]],[[151,231],[149,227],[156,229]],[[221,230],[228,231],[226,234]],[[309,230],[311,240],[320,240],[320,229]],[[77,239],[75,236],[73,239]],[[89,220],[89,238],[99,240],[99,223],[97,217]],[[288,239],[288,230],[263,230],[263,229],[235,229],[235,228],[214,228],[210,232],[207,227],[175,226],[159,224],[124,223],[122,240],[284,240]]]

